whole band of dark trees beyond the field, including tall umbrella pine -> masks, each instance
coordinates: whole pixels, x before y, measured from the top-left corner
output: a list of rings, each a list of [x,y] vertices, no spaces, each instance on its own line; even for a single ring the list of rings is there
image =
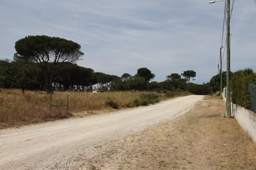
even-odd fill
[[[210,93],[209,83],[191,83],[196,77],[193,70],[181,75],[173,73],[162,82],[150,82],[155,77],[148,68],[139,68],[137,74],[124,73],[121,77],[75,64],[84,55],[76,42],[45,35],[26,36],[15,43],[14,60],[0,61],[0,87],[30,90],[91,91],[96,85],[101,91],[176,90],[194,94]],[[182,78],[183,77],[183,78]]]

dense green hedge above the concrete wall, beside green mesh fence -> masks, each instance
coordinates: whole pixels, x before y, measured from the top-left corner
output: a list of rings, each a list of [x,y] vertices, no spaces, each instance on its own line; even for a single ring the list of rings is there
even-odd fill
[[[251,100],[248,86],[250,83],[256,84],[256,74],[254,70],[246,68],[234,73],[231,79],[232,102],[242,107],[250,108]]]

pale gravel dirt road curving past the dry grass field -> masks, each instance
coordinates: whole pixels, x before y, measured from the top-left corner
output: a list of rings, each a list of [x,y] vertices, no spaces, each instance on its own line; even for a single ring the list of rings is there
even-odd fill
[[[0,130],[0,169],[78,169],[110,140],[186,113],[203,96],[185,96],[105,115]],[[115,145],[115,143],[111,143]]]

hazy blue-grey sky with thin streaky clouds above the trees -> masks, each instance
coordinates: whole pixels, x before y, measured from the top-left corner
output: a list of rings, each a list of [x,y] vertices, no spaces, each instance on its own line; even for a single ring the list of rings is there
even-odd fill
[[[95,72],[134,75],[146,67],[160,82],[166,75],[194,70],[194,83],[207,83],[218,73],[225,4],[208,2],[0,0],[0,59],[12,60],[15,42],[25,36],[57,36],[80,44],[84,56],[77,64]],[[235,1],[231,71],[256,70],[255,16],[256,0]]]

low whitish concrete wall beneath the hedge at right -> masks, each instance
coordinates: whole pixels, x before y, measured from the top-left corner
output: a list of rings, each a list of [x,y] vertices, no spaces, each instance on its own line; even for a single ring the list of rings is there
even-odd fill
[[[223,90],[225,92],[225,90]],[[226,101],[225,94],[222,94],[223,99]],[[256,114],[238,104],[231,102],[231,116],[234,116],[239,125],[251,137],[252,141],[256,144]]]

